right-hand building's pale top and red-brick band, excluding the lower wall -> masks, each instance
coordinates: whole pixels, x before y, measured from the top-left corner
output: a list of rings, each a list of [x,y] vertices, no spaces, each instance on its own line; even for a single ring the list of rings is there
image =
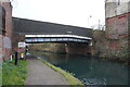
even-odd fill
[[[105,16],[108,38],[119,39],[128,35],[128,17],[130,16],[130,0],[106,0]],[[126,1],[126,2],[125,2]]]

